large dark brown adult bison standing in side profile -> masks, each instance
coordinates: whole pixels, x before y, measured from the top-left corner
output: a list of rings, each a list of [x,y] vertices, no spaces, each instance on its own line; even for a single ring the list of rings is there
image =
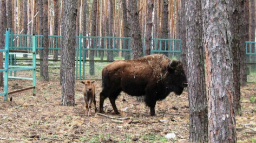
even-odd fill
[[[134,60],[114,61],[102,70],[100,112],[107,97],[116,114],[115,100],[121,91],[131,96],[145,95],[150,115],[155,115],[156,101],[170,92],[180,95],[187,87],[187,78],[180,61],[171,61],[165,55],[149,55]]]

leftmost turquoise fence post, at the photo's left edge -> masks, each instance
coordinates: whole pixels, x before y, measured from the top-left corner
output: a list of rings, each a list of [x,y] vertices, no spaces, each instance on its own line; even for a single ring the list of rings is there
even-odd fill
[[[8,100],[9,38],[10,38],[10,30],[8,30],[8,28],[7,28],[7,30],[5,32],[5,49],[6,49],[6,52],[5,52],[4,69],[6,69],[6,70],[4,71],[4,92],[6,94],[4,95],[4,101]]]

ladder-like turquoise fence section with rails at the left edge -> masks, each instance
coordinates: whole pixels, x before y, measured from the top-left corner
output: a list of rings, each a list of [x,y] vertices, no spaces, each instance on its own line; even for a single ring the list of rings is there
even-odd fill
[[[14,94],[16,92],[24,91],[33,89],[33,95],[36,94],[36,37],[31,37],[31,45],[32,45],[32,51],[27,50],[17,50],[14,49],[13,44],[13,34],[10,32],[10,30],[6,30],[5,32],[5,48],[0,49],[0,52],[4,52],[4,69],[0,69],[0,72],[4,72],[4,92],[0,93],[0,96],[4,96],[4,101],[8,99],[9,94]],[[23,48],[25,48],[24,46]],[[12,56],[16,55],[31,55],[32,56],[32,66],[16,66],[12,63]],[[10,60],[9,60],[10,56]],[[23,70],[32,70],[32,77],[18,77],[18,76],[12,76],[9,72],[12,71],[23,71]],[[8,80],[9,78],[14,79],[21,79],[21,80],[31,80],[32,81],[32,87],[18,89],[15,91],[8,91]]]

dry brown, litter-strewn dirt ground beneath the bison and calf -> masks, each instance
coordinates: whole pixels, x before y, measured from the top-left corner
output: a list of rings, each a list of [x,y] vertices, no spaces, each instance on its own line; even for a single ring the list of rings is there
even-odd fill
[[[9,91],[25,88],[30,82],[10,80]],[[0,142],[188,142],[188,94],[171,94],[156,103],[156,116],[149,116],[149,108],[135,97],[121,94],[116,100],[121,112],[118,117],[130,117],[115,123],[100,115],[86,116],[82,97],[83,84],[75,83],[76,106],[61,106],[61,86],[56,80],[37,80],[37,93],[32,90],[9,95],[12,102],[0,97]],[[96,81],[96,101],[99,109],[101,81]],[[256,140],[256,84],[242,87],[242,116],[237,117],[238,142]],[[123,99],[126,102],[123,102]],[[108,99],[104,103],[106,115],[114,117]],[[94,110],[93,110],[94,111]],[[167,140],[167,133],[175,133]]]

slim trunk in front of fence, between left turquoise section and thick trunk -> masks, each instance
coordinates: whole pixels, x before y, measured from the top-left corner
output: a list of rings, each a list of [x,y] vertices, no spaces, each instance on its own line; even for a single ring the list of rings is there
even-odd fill
[[[49,81],[48,73],[48,0],[43,1],[43,79]]]

